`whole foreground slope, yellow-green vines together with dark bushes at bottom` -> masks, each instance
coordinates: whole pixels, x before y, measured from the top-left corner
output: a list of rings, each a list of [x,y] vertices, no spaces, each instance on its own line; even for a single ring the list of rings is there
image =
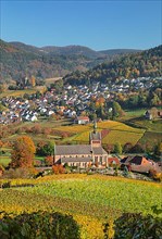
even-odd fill
[[[0,192],[2,236],[17,236],[22,231],[22,237],[14,238],[101,239],[108,238],[105,225],[109,223],[109,231],[115,232],[114,239],[121,235],[124,235],[122,238],[134,235],[137,235],[134,238],[160,238],[161,214],[155,215],[161,206],[158,184],[88,174],[1,179],[0,183],[12,187]],[[55,212],[57,223],[52,217]],[[135,230],[136,227],[139,229]],[[4,236],[2,238],[10,238]]]

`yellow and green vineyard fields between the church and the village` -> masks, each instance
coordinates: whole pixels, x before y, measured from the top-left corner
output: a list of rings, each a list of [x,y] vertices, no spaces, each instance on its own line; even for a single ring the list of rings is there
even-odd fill
[[[48,127],[49,122],[39,122],[37,124],[23,123],[15,124],[12,128],[3,126],[4,142],[13,142],[17,136],[21,134],[28,135],[37,144],[38,142],[52,142],[52,143],[89,143],[89,133],[94,130],[92,124],[87,125],[67,125],[71,122],[67,121],[54,121],[50,122],[50,127]],[[64,125],[65,124],[65,125]],[[112,143],[115,144],[120,142],[122,146],[129,142],[135,146],[138,141],[146,141],[144,136],[147,134],[145,129],[134,128],[127,126],[120,122],[105,121],[98,123],[98,131],[101,131],[102,143],[104,146]],[[153,134],[153,133],[152,133]],[[145,137],[147,140],[149,137]],[[160,134],[159,134],[160,138]],[[151,141],[153,139],[151,138]],[[7,146],[1,148],[4,153],[1,154],[0,164],[7,166],[10,161],[11,147]]]

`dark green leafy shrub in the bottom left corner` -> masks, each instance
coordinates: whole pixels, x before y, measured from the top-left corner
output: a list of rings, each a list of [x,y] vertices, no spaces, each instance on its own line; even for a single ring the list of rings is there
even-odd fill
[[[18,216],[13,216],[14,215],[11,216],[11,214],[3,215],[3,218],[0,221],[0,238],[80,238],[79,226],[71,215],[39,211],[32,214],[24,213]]]

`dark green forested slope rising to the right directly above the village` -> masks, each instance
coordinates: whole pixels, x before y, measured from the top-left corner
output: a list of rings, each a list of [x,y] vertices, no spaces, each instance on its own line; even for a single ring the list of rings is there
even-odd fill
[[[119,81],[122,78],[161,76],[162,45],[142,52],[127,54],[110,63],[101,63],[85,73],[74,72],[64,77],[65,83]]]

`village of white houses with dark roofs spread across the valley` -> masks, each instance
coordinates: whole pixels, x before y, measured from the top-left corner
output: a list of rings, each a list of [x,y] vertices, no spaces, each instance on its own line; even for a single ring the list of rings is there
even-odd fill
[[[89,117],[84,114],[96,113],[90,105],[91,99],[100,98],[110,102],[113,101],[116,92],[128,95],[130,84],[136,92],[139,89],[155,86],[161,79],[160,77],[140,77],[132,80],[124,79],[122,84],[111,86],[99,81],[90,87],[86,85],[65,85],[60,93],[51,87],[43,95],[37,91],[33,95],[24,95],[24,97],[4,97],[0,100],[1,104],[5,106],[5,110],[0,111],[0,124],[25,121],[37,122],[40,116],[48,118],[51,115],[53,117],[60,115],[61,117],[75,120],[74,123],[86,124],[89,123]],[[112,109],[109,108],[108,111],[111,112]]]

